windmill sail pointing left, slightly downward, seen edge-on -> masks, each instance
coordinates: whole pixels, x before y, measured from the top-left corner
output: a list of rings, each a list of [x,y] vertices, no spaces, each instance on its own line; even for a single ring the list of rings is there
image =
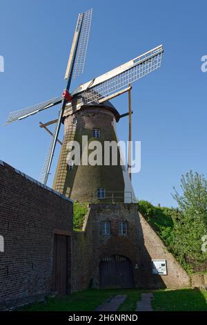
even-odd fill
[[[23,118],[28,118],[30,115],[34,115],[39,111],[43,111],[44,109],[49,109],[52,106],[61,103],[61,97],[52,98],[52,100],[46,100],[46,102],[41,102],[40,104],[30,106],[27,109],[21,109],[21,111],[14,111],[8,115],[8,119],[6,124],[17,120],[23,120]]]

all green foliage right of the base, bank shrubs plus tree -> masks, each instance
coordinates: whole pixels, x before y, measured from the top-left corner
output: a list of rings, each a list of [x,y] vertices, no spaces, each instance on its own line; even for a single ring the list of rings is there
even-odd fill
[[[186,271],[193,272],[195,263],[207,260],[207,252],[201,251],[207,234],[207,180],[190,171],[181,177],[181,194],[174,190],[177,209],[139,201],[139,211]]]

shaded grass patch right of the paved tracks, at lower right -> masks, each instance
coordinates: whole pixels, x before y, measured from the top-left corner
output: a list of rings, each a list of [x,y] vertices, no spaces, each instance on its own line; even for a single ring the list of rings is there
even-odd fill
[[[207,292],[198,289],[157,290],[152,308],[162,311],[207,311]]]

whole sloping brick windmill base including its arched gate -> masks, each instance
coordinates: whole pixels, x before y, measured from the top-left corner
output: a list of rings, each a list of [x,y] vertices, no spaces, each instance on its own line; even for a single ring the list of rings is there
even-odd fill
[[[126,222],[126,234],[120,233],[121,221]],[[110,223],[108,234],[102,232],[103,223]],[[139,213],[137,204],[89,205],[82,232],[75,232],[72,240],[72,291],[88,286],[149,289],[189,286],[186,271],[166,250]],[[152,261],[165,264],[166,274],[154,274]]]

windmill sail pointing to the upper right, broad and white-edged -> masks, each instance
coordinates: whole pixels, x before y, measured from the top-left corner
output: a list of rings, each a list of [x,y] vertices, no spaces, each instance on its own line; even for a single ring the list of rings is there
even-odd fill
[[[159,68],[163,51],[162,45],[152,48],[152,50],[135,57],[126,64],[122,64],[108,73],[86,82],[86,84],[82,84],[73,91],[72,95],[83,94],[87,104],[108,97]]]

